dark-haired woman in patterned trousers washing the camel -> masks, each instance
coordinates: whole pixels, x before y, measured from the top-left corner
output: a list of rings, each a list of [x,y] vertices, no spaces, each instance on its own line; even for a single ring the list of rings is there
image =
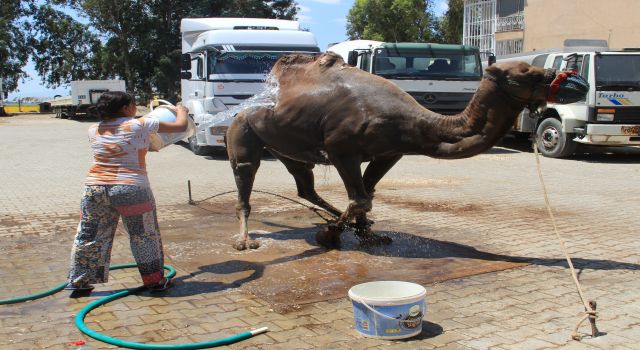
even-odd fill
[[[92,284],[107,282],[113,238],[122,216],[144,286],[165,290],[171,280],[164,277],[162,240],[145,156],[153,133],[186,130],[187,109],[174,108],[176,120],[170,123],[135,119],[134,98],[113,91],[102,94],[96,112],[101,121],[89,128],[94,162],[85,181],[67,289],[91,291]]]

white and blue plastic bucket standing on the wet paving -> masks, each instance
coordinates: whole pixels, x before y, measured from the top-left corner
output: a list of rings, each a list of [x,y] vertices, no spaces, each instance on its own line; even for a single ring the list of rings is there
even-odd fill
[[[364,336],[402,339],[422,332],[427,290],[415,283],[376,281],[349,289],[356,330]]]

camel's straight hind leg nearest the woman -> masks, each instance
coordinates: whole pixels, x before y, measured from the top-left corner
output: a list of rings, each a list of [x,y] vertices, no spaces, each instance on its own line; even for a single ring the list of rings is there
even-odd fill
[[[270,110],[260,109],[255,113],[271,113]],[[233,247],[237,250],[256,249],[258,242],[249,239],[248,220],[251,214],[249,199],[253,189],[253,181],[260,167],[260,158],[264,143],[255,134],[247,122],[245,113],[239,113],[227,130],[227,153],[233,169],[233,175],[238,188],[238,202],[236,216],[240,221],[240,235]]]

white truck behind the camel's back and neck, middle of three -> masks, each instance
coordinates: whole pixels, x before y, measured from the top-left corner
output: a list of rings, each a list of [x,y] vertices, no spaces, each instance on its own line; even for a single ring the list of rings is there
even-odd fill
[[[424,107],[442,114],[464,110],[482,79],[480,54],[473,46],[352,40],[327,51],[390,80]]]

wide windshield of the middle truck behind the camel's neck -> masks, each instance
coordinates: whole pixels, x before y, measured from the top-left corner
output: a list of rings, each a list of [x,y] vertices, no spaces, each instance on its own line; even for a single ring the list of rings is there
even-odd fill
[[[473,80],[482,78],[477,52],[377,49],[373,73],[391,79]]]

